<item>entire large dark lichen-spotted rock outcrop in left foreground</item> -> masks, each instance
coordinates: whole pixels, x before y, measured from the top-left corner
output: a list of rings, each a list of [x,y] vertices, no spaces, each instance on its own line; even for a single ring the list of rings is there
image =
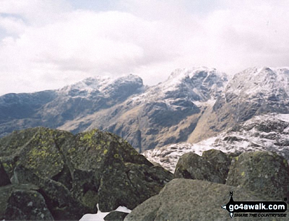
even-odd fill
[[[74,136],[27,129],[0,138],[0,152],[12,183],[36,185],[55,220],[94,214],[97,203],[102,212],[133,209],[173,178],[126,140],[99,130]]]

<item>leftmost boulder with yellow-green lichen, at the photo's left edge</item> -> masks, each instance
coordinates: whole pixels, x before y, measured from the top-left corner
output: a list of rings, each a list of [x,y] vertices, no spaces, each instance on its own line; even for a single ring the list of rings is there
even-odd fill
[[[22,164],[41,177],[58,177],[65,169],[61,146],[71,138],[71,133],[43,127],[16,131],[0,139],[0,158],[10,176]]]

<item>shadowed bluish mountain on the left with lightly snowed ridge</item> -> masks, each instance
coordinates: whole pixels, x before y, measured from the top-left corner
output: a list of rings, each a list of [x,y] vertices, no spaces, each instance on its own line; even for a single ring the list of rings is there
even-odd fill
[[[88,78],[59,90],[0,96],[0,136],[35,126],[57,128],[68,120],[122,103],[142,88],[139,77],[128,75],[116,80]]]

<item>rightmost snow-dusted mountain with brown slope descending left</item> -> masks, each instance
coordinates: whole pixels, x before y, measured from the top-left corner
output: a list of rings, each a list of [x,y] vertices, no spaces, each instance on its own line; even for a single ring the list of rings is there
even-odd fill
[[[249,68],[237,73],[188,141],[212,137],[266,113],[289,113],[288,68]]]

